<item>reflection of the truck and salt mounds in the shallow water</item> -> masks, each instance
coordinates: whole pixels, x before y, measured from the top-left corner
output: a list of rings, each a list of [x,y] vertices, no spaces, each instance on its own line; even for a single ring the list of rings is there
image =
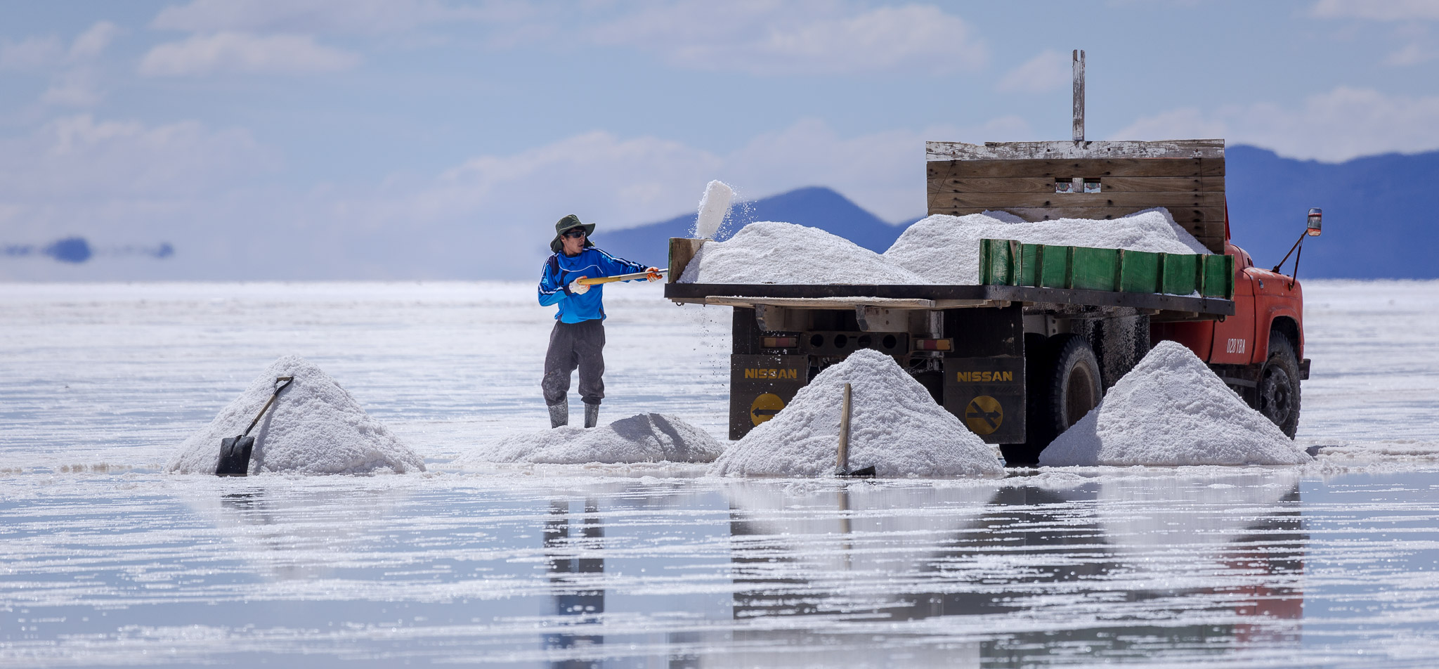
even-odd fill
[[[732,617],[748,624],[721,663],[784,665],[803,652],[806,662],[905,653],[912,665],[1020,666],[1056,653],[1125,662],[1158,649],[1297,646],[1308,537],[1298,479],[1285,476],[971,493],[856,483],[809,499],[740,489],[731,563],[748,587]],[[856,632],[871,629],[872,647],[856,649]]]

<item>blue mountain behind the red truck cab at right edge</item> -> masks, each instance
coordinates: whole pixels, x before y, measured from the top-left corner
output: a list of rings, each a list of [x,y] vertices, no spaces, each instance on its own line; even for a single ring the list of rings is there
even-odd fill
[[[1439,151],[1325,164],[1238,145],[1225,170],[1230,236],[1255,265],[1279,262],[1309,207],[1322,207],[1324,235],[1304,242],[1299,279],[1439,278]]]

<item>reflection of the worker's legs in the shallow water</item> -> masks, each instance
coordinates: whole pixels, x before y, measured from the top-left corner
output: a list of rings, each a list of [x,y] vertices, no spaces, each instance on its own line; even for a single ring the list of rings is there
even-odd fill
[[[567,632],[544,636],[547,650],[570,650],[604,643],[600,634],[586,634],[584,626],[597,624],[604,614],[604,590],[590,588],[604,578],[604,558],[580,557],[599,555],[603,550],[604,527],[600,525],[599,505],[584,501],[584,515],[578,518],[574,535],[570,535],[570,502],[550,502],[550,518],[544,524],[545,558],[550,568],[550,583],[554,587],[554,610],[561,616],[561,627]],[[599,666],[587,659],[564,659],[553,662],[557,669],[578,669]]]

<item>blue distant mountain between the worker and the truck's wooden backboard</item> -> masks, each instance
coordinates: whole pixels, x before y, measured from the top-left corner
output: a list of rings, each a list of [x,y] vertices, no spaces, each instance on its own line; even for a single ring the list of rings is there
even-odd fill
[[[692,211],[625,230],[600,229],[594,232],[594,243],[616,256],[663,266],[669,258],[669,237],[688,237],[696,217],[698,211]],[[715,237],[730,239],[737,230],[757,220],[819,227],[876,252],[888,249],[904,232],[902,226],[885,223],[833,190],[807,187],[763,200],[735,203]]]

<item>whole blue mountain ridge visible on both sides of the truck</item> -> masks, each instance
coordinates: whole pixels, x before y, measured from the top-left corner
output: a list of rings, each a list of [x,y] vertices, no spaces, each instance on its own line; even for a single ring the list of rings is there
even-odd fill
[[[1439,184],[1439,151],[1318,163],[1233,145],[1225,167],[1230,235],[1256,265],[1279,262],[1304,230],[1308,209],[1322,207],[1324,235],[1304,243],[1301,278],[1439,278],[1439,263],[1432,260],[1439,230],[1420,211]],[[695,217],[686,213],[623,230],[602,226],[594,243],[620,258],[662,266],[669,237],[688,237]],[[819,227],[884,252],[918,217],[891,224],[845,196],[813,186],[735,203],[717,239],[757,220]]]

